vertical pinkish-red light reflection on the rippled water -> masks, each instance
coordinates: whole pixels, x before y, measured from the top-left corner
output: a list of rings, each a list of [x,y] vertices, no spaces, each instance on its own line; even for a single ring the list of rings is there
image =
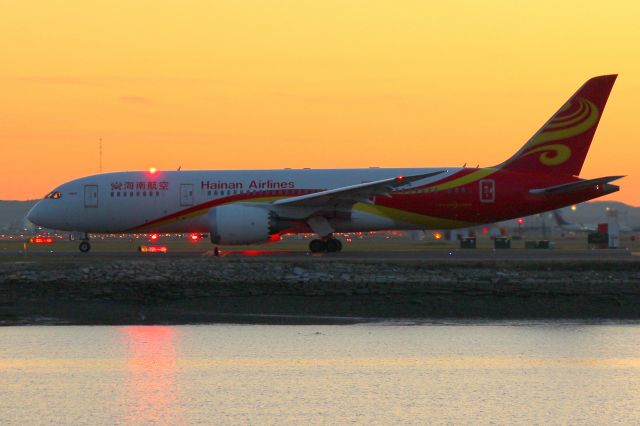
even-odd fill
[[[173,327],[122,328],[127,348],[128,424],[182,423],[177,402],[176,338]]]

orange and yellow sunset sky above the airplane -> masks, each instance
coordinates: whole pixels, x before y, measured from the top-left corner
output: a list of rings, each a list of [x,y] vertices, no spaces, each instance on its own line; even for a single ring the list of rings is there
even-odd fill
[[[491,166],[618,73],[582,171],[640,205],[636,1],[4,2],[0,199],[99,170]]]

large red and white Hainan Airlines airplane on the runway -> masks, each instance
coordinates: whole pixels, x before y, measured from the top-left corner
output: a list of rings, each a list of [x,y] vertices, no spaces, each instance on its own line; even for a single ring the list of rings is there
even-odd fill
[[[64,183],[28,219],[90,233],[209,233],[216,245],[314,233],[311,252],[338,252],[334,233],[469,228],[581,203],[624,176],[582,179],[617,75],[594,77],[506,161],[486,168],[131,171]]]

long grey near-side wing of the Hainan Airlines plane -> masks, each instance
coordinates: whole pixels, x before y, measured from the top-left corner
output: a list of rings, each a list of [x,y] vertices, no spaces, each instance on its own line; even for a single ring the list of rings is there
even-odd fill
[[[390,192],[398,188],[406,186],[412,182],[439,175],[445,171],[446,170],[439,170],[437,172],[413,176],[396,176],[389,179],[343,186],[341,188],[328,189],[326,191],[320,191],[313,194],[305,194],[298,197],[277,200],[272,204],[276,206],[291,207],[324,207],[335,205],[351,206],[358,202],[367,202],[367,200],[375,195],[389,196]]]

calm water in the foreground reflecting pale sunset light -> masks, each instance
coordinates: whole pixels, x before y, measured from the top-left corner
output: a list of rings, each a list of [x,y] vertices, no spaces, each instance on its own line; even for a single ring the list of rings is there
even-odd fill
[[[638,324],[0,328],[0,424],[636,423]]]

